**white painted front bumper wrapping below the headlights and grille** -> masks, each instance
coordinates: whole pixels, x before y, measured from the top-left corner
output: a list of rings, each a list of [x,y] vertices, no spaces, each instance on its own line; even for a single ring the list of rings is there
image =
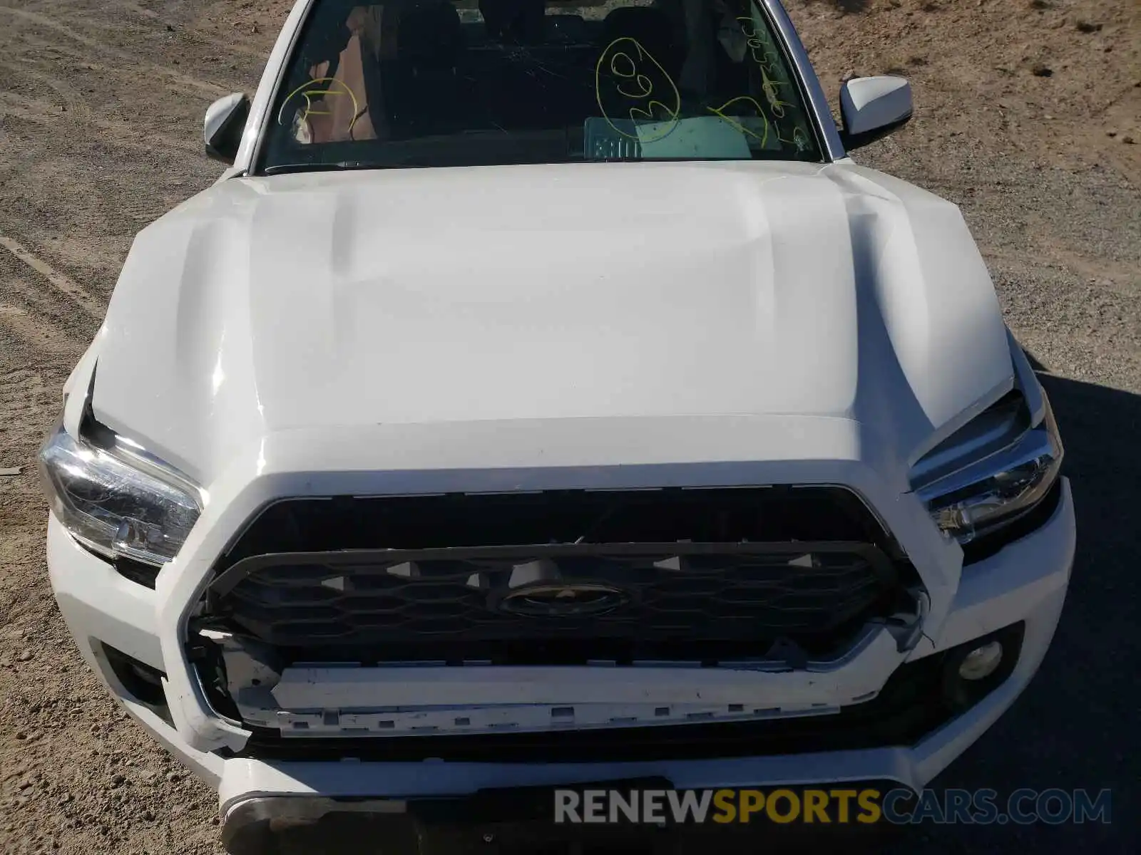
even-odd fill
[[[1057,627],[1075,551],[1074,506],[1063,481],[1060,504],[1042,528],[998,554],[963,569],[936,637],[924,637],[909,660],[1025,621],[1018,666],[1009,679],[968,712],[914,746],[733,759],[638,763],[265,763],[202,751],[147,708],[124,697],[99,642],[164,668],[161,594],[127,581],[80,548],[54,518],[48,564],[60,611],[84,659],[127,710],[163,746],[219,790],[222,813],[265,795],[440,796],[487,787],[544,785],[664,776],[678,788],[896,780],[920,788],[979,738],[1026,687]],[[160,585],[160,591],[162,586]],[[168,684],[168,697],[177,690]],[[172,710],[193,699],[170,698]],[[194,705],[189,705],[194,706]],[[199,705],[201,706],[201,705]],[[177,715],[177,712],[176,712]],[[203,710],[202,715],[209,715]],[[185,722],[183,723],[185,726]]]

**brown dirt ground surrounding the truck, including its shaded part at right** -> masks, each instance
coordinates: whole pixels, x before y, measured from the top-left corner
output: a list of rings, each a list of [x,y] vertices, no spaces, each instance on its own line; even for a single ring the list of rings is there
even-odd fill
[[[0,0],[0,848],[219,852],[215,796],[105,698],[56,611],[33,458],[132,235],[219,173],[216,97],[252,91],[286,0]],[[961,204],[1067,441],[1081,544],[1054,645],[937,783],[1114,788],[1109,826],[926,826],[899,852],[1141,852],[1141,5],[788,0],[835,97],[905,73],[864,162]]]

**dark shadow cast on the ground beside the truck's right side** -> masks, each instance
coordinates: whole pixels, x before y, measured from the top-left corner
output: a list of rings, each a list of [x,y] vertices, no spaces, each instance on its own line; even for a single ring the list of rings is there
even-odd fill
[[[1141,767],[1135,748],[1141,687],[1136,602],[1141,559],[1141,397],[1079,383],[1039,370],[1066,443],[1065,473],[1071,480],[1078,520],[1078,554],[1069,597],[1053,645],[1026,693],[963,757],[932,782],[934,789],[987,788],[996,803],[1020,788],[1060,788],[1094,792],[1112,790],[1109,824],[933,825],[849,829],[834,834],[804,836],[791,829],[758,824],[755,837],[626,841],[616,847],[501,848],[499,840],[479,839],[440,852],[448,855],[720,855],[720,853],[1069,853],[1094,848],[1108,854],[1141,852],[1133,806],[1138,803]],[[839,829],[833,829],[833,832]],[[311,834],[311,830],[310,830]],[[294,829],[280,848],[268,853],[385,853],[394,848],[383,838],[358,828],[338,844]],[[367,842],[366,842],[367,841]],[[375,842],[373,842],[375,841]],[[1131,842],[1132,841],[1132,842]],[[470,845],[472,848],[467,848]],[[434,849],[435,850],[435,849]]]

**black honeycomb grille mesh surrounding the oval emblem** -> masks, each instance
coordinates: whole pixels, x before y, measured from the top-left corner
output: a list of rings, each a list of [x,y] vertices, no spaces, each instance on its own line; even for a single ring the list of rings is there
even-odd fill
[[[589,637],[596,651],[609,641],[615,651],[638,658],[659,654],[663,644],[681,638],[693,651],[702,643],[760,645],[779,636],[828,634],[866,617],[890,588],[874,556],[844,548],[679,555],[674,545],[638,554],[594,547],[553,556],[543,547],[519,555],[443,552],[448,551],[343,562],[330,562],[327,555],[254,560],[261,565],[220,604],[243,629],[280,646],[369,645],[383,648],[385,659],[429,652],[470,659],[496,658],[488,652],[496,644],[569,644]],[[536,570],[545,575],[537,583],[531,580]],[[559,614],[573,606],[559,604],[557,594],[551,613],[509,611],[519,598],[512,594],[525,595],[536,585],[618,593],[604,594],[612,598],[599,603],[605,609],[599,613]],[[550,602],[540,598],[540,608]]]

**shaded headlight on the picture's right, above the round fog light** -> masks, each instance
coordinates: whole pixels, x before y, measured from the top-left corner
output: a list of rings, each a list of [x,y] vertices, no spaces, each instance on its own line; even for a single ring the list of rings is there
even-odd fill
[[[1058,480],[1062,442],[1050,401],[1030,424],[1021,392],[1005,396],[926,454],[912,471],[934,523],[960,544],[1012,523]]]

